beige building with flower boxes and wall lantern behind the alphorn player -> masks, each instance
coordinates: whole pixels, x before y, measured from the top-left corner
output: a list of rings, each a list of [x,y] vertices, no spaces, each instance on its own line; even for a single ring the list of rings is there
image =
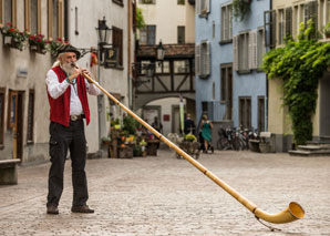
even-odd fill
[[[45,40],[58,38],[87,52],[79,65],[91,70],[101,85],[130,105],[131,63],[134,40],[132,0],[0,0],[0,27],[11,27]],[[118,63],[110,69],[100,63],[91,66],[91,47],[97,49],[99,20],[111,29],[110,41],[116,47]],[[130,30],[128,30],[130,29]],[[0,39],[0,160],[21,158],[37,162],[49,158],[49,103],[45,74],[55,61],[49,51],[33,49],[27,42]],[[101,65],[102,64],[102,65]],[[111,105],[105,95],[89,96],[91,123],[86,127],[89,155],[100,155],[100,138],[107,135]],[[116,109],[113,109],[116,110]],[[120,112],[117,112],[117,115]]]

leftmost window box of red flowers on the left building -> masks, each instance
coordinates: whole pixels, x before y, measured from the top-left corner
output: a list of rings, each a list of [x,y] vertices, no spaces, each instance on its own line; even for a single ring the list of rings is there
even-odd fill
[[[6,23],[4,27],[1,28],[1,32],[3,35],[4,45],[10,45],[12,48],[19,49],[20,51],[23,50],[24,42],[27,40],[23,32],[20,32],[10,22]]]

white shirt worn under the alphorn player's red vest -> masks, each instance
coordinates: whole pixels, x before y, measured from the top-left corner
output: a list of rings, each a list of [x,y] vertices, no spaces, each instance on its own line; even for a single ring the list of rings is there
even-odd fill
[[[83,109],[80,102],[80,99],[78,96],[78,89],[76,89],[76,83],[70,84],[68,83],[66,80],[62,81],[62,83],[59,82],[58,75],[53,70],[50,70],[47,73],[45,78],[45,83],[47,83],[47,89],[52,99],[58,99],[61,96],[65,90],[71,86],[71,95],[70,95],[70,115],[81,115],[83,114]],[[89,83],[87,80],[85,79],[85,85],[86,85],[86,91],[91,95],[99,95],[100,94],[100,89],[94,85],[93,83]]]

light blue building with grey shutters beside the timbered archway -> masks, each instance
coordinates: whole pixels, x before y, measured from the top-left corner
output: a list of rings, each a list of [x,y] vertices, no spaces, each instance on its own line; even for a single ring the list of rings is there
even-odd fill
[[[235,1],[249,11],[235,18]],[[196,0],[196,117],[267,129],[264,12],[269,0]],[[214,132],[216,133],[216,132]]]

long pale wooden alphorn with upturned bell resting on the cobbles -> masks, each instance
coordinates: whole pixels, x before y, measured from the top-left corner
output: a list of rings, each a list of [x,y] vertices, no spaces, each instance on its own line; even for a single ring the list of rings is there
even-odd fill
[[[73,66],[75,66],[76,69],[79,69],[75,64],[73,64]],[[206,167],[204,167],[199,162],[197,162],[196,160],[194,160],[190,155],[188,155],[186,152],[184,152],[183,150],[181,150],[177,145],[175,145],[173,142],[171,142],[169,140],[167,140],[164,135],[162,135],[155,129],[153,129],[148,123],[146,123],[144,120],[142,120],[133,111],[131,111],[124,104],[122,104],[120,101],[117,101],[112,94],[110,94],[97,82],[95,82],[89,74],[86,74],[86,73],[82,73],[82,74],[91,83],[95,84],[103,93],[105,93],[115,104],[117,104],[125,112],[127,112],[135,120],[137,120],[142,125],[144,125],[147,130],[149,130],[156,137],[158,137],[161,141],[163,141],[164,143],[166,143],[171,148],[173,148],[175,152],[177,152],[186,161],[188,161],[196,168],[198,168],[203,174],[205,174],[207,177],[209,177],[213,182],[215,182],[224,191],[226,191],[234,198],[236,198],[240,204],[243,204],[246,208],[248,208],[256,216],[257,219],[261,218],[261,219],[264,219],[264,220],[266,220],[268,223],[283,224],[283,223],[290,223],[290,222],[295,222],[297,219],[303,218],[305,211],[296,202],[291,202],[288,207],[286,207],[283,211],[281,211],[278,214],[269,214],[269,213],[264,212],[262,209],[258,208],[257,205],[255,205],[254,203],[251,203],[250,201],[248,201],[246,197],[244,197],[243,195],[240,195],[236,189],[234,189],[233,187],[230,187],[228,184],[226,184],[224,181],[221,181],[219,177],[217,177],[215,174],[213,174],[210,171],[208,171]],[[267,226],[267,227],[269,227],[269,226]],[[275,229],[275,228],[271,228],[271,229]]]

